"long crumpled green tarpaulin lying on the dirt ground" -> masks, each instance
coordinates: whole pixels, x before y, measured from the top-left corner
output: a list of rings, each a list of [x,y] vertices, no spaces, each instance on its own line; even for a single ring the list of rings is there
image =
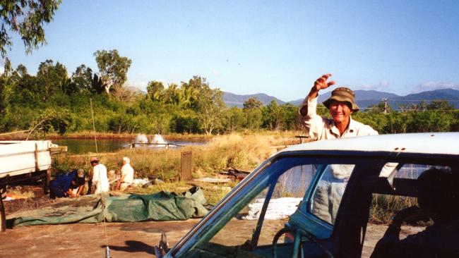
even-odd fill
[[[32,211],[8,216],[14,226],[63,223],[97,223],[107,221],[179,221],[200,218],[208,210],[201,188],[191,188],[183,194],[157,192],[152,195],[111,197],[91,195]]]

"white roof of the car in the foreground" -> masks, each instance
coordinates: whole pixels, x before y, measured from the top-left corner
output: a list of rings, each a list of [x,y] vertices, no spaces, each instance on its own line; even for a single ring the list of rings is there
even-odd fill
[[[282,152],[337,150],[459,155],[459,133],[402,133],[306,142]]]

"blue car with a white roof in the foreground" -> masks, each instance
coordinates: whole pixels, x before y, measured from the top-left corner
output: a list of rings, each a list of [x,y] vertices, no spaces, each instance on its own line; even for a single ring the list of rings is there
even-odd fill
[[[459,133],[296,145],[258,166],[177,245],[163,239],[155,250],[157,257],[459,257],[458,172]],[[403,222],[400,238],[410,236],[399,240]]]

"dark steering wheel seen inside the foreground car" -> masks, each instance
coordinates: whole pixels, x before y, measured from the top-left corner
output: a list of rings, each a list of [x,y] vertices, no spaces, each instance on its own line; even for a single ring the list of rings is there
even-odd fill
[[[327,257],[334,258],[333,254],[330,251],[328,251],[328,249],[319,242],[318,238],[316,238],[315,235],[309,233],[308,231],[301,230],[298,228],[293,228],[291,226],[285,226],[285,228],[282,228],[280,231],[278,231],[278,233],[274,235],[274,238],[273,238],[273,257],[274,258],[278,257],[277,250],[278,250],[279,238],[288,232],[294,233],[294,236],[295,236],[294,242],[293,242],[292,258],[298,257],[298,252],[299,252],[299,247],[301,246],[302,236],[305,236],[306,238],[311,240],[311,242],[314,242],[321,250],[323,250],[323,252],[325,252],[325,254],[327,254]]]

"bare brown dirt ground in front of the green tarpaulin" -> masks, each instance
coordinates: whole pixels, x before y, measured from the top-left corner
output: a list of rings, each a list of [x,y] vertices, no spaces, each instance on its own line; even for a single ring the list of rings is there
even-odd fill
[[[0,257],[154,257],[153,246],[166,232],[172,247],[199,219],[136,223],[24,226],[0,233]],[[82,253],[84,254],[82,256]]]

